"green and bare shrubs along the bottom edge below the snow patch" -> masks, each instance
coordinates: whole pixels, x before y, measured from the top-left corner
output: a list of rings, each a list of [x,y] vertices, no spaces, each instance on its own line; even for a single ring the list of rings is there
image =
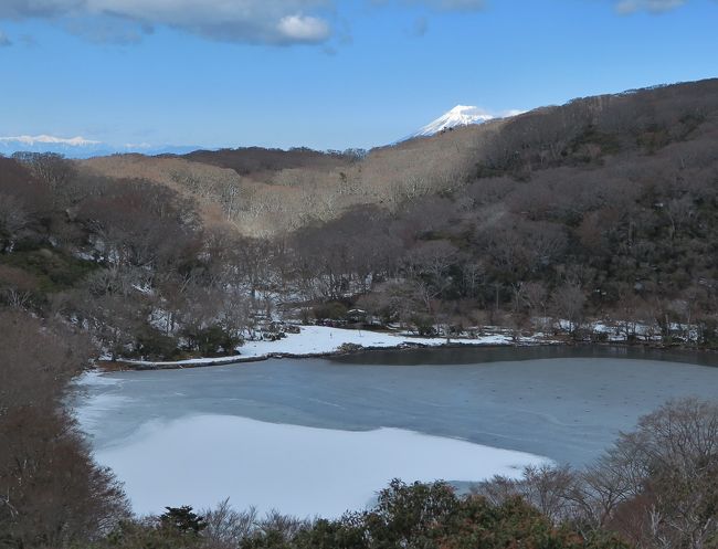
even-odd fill
[[[627,549],[606,532],[584,538],[568,524],[556,526],[521,498],[494,505],[484,497],[456,496],[445,483],[406,485],[393,481],[373,509],[341,519],[302,520],[253,510],[235,511],[224,502],[201,514],[168,508],[159,517],[124,521],[101,548],[130,549]]]

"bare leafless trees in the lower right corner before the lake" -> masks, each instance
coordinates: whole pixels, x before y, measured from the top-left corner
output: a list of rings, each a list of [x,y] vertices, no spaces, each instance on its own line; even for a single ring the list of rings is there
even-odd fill
[[[638,548],[706,549],[718,536],[718,404],[672,401],[640,419],[583,471],[528,467],[473,488],[494,503],[519,495],[584,536],[616,531]]]

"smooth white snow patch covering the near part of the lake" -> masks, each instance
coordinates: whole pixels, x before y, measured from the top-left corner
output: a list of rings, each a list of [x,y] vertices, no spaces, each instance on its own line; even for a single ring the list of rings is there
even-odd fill
[[[370,505],[394,477],[405,482],[518,476],[546,458],[400,429],[339,431],[232,415],[151,421],[128,439],[96,448],[138,514],[165,506],[339,517]]]

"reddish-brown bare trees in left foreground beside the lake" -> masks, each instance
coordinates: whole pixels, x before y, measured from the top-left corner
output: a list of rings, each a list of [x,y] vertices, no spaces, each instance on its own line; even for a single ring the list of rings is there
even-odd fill
[[[19,312],[0,310],[0,547],[98,540],[130,513],[63,405],[92,344],[64,323]]]

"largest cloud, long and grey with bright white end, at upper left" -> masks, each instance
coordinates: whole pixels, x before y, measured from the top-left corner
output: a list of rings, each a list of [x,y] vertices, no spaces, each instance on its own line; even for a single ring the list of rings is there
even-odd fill
[[[62,19],[93,41],[134,42],[152,25],[244,43],[317,43],[334,0],[0,0],[0,19]],[[89,22],[87,22],[89,21]],[[94,25],[101,21],[99,27]],[[128,30],[128,27],[134,29]],[[118,30],[119,29],[119,30]]]

